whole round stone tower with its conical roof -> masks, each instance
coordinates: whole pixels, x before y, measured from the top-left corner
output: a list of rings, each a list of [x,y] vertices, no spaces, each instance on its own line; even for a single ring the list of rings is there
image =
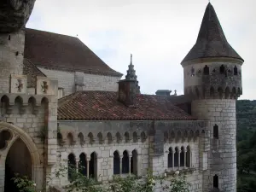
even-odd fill
[[[242,63],[209,3],[196,43],[181,63],[192,115],[210,121],[203,191],[236,191],[236,99],[242,93]]]

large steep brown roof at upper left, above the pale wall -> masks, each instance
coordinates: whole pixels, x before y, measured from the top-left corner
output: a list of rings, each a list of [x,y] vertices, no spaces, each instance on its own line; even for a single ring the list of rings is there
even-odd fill
[[[121,77],[79,38],[26,28],[24,57],[37,67]]]

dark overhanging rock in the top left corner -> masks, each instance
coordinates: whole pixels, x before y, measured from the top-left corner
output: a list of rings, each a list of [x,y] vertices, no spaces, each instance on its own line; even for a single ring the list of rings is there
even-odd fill
[[[26,25],[36,0],[1,0],[0,32],[15,32]]]

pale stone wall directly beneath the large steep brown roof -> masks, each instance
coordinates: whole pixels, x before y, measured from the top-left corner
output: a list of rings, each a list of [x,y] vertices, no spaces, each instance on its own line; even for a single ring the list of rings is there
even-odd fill
[[[59,87],[64,88],[67,96],[76,90],[109,90],[117,91],[120,77],[103,76],[88,73],[73,73],[38,67],[47,77],[58,79]],[[82,89],[80,81],[83,82]],[[79,84],[77,84],[79,83]],[[77,84],[77,86],[76,86]]]

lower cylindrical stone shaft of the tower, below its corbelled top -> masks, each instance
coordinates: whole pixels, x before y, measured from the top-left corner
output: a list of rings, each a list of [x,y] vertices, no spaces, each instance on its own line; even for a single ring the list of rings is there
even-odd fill
[[[192,102],[192,115],[210,120],[210,151],[208,171],[204,174],[204,191],[213,187],[213,176],[218,176],[220,191],[236,191],[236,100],[208,99]],[[213,126],[218,126],[218,137],[213,137]]]

